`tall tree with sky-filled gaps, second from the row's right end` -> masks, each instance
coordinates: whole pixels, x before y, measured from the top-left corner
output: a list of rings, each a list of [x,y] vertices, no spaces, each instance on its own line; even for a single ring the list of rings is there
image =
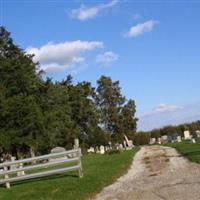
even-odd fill
[[[125,97],[121,94],[119,81],[113,82],[110,77],[102,76],[97,81],[97,107],[100,113],[100,123],[104,130],[112,135],[114,140],[122,140],[122,124],[120,119]],[[123,117],[122,117],[123,118]]]

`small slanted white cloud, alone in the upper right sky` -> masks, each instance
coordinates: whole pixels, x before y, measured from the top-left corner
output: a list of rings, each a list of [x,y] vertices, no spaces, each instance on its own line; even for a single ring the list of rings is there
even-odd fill
[[[156,24],[158,24],[159,22],[156,21],[156,20],[149,20],[149,21],[146,21],[144,23],[139,23],[135,26],[132,26],[130,28],[130,30],[125,33],[125,37],[138,37],[139,35],[142,35],[143,33],[145,32],[150,32],[153,30],[154,26]]]

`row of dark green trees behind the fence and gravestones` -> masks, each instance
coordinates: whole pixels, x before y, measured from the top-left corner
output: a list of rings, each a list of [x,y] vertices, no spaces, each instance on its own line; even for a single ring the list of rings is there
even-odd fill
[[[0,27],[0,154],[17,158],[47,153],[55,146],[70,149],[79,138],[83,149],[121,143],[136,132],[136,106],[121,93],[119,81],[101,76],[73,84],[43,78],[34,55],[14,44]]]

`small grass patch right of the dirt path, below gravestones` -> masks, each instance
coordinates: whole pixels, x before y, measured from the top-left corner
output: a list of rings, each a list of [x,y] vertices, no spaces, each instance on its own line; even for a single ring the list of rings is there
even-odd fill
[[[168,143],[167,146],[175,148],[179,153],[192,162],[200,163],[200,139],[195,144],[188,144],[187,141],[180,143]]]

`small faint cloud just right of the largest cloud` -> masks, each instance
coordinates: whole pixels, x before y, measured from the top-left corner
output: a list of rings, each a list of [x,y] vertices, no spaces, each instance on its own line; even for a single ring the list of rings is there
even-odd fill
[[[107,51],[103,54],[99,54],[96,57],[96,62],[100,64],[110,64],[111,62],[114,62],[118,60],[119,56],[112,51]]]

